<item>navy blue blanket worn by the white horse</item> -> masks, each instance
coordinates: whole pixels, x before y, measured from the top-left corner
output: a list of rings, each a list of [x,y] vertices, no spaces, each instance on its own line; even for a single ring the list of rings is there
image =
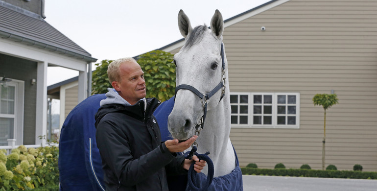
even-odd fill
[[[79,103],[63,123],[59,140],[60,191],[104,191],[101,157],[95,142],[94,115],[105,94],[92,95]],[[174,97],[163,102],[154,112],[160,126],[162,141],[171,139],[167,117],[174,106]],[[178,153],[180,154],[180,153]],[[235,152],[236,154],[236,152]],[[213,178],[209,191],[243,191],[242,172],[236,155],[236,168],[227,175]],[[196,176],[198,187],[203,187],[207,176]],[[168,176],[171,191],[185,191],[187,176]]]

